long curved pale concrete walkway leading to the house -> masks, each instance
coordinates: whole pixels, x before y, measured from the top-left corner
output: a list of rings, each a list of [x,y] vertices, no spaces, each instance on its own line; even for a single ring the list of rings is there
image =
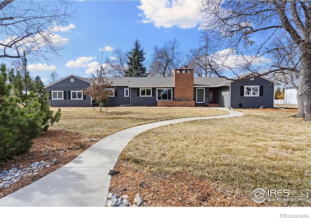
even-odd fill
[[[108,172],[114,168],[123,148],[133,137],[161,125],[243,115],[235,110],[217,109],[229,111],[230,114],[160,121],[131,127],[109,135],[62,168],[0,199],[0,206],[103,207],[106,204],[110,186],[111,177]]]

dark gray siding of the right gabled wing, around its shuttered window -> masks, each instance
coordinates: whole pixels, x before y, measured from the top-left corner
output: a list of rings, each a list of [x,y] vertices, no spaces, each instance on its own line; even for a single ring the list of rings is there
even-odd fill
[[[262,86],[262,96],[241,96],[241,86]],[[241,80],[231,83],[231,107],[239,108],[272,108],[274,99],[274,83],[263,78]]]

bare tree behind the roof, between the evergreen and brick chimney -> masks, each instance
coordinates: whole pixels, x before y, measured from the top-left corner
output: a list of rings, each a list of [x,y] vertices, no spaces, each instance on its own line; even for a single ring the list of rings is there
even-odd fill
[[[150,75],[154,77],[172,77],[174,68],[180,63],[181,52],[176,38],[165,43],[163,47],[154,47]]]

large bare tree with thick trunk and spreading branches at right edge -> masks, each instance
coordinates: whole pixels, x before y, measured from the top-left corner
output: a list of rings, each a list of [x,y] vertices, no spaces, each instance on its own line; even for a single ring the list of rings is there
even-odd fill
[[[296,117],[311,120],[311,1],[202,0],[200,11],[206,21],[202,27],[213,34],[220,45],[233,48],[235,54],[244,59],[238,64],[241,70],[258,76],[297,73],[300,84]],[[271,43],[276,39],[282,39],[285,47],[298,51],[298,62],[290,65],[281,60],[284,56],[277,53],[288,50]],[[271,56],[278,62],[267,60]]]

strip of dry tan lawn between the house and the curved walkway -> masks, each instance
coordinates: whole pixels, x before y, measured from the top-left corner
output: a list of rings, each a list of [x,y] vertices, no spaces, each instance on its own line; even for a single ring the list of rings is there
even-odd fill
[[[53,110],[57,110],[53,108]],[[59,123],[51,129],[66,130],[104,138],[129,127],[183,117],[215,116],[227,112],[211,108],[117,107],[99,112],[97,108],[62,108]],[[105,108],[102,109],[105,111]]]

